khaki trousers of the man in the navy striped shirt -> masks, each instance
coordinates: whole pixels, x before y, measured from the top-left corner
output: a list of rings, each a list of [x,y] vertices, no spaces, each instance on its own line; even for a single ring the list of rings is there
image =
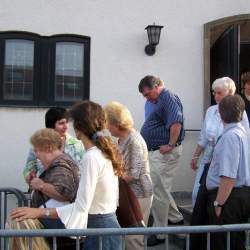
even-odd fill
[[[154,192],[152,204],[154,227],[166,227],[168,220],[178,222],[183,219],[170,193],[181,153],[181,145],[166,154],[161,154],[159,150],[149,152],[150,175]]]

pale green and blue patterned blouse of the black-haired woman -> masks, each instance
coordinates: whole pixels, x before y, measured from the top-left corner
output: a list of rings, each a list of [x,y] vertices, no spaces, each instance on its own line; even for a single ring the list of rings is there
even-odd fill
[[[67,134],[64,153],[68,154],[77,164],[79,164],[84,154],[82,142]],[[23,169],[24,178],[26,178],[26,176],[28,176],[31,171],[34,171],[37,176],[40,176],[44,171],[41,161],[36,158],[35,152],[32,148],[29,151],[26,165]]]

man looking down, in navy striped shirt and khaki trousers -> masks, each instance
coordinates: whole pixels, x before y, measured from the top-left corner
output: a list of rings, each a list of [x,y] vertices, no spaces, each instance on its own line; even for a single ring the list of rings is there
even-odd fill
[[[182,153],[183,108],[179,97],[166,90],[158,77],[144,77],[139,84],[139,91],[148,102],[153,103],[153,108],[141,128],[149,151],[153,181],[153,226],[165,227],[170,217],[173,223],[183,222],[183,217],[170,194]],[[148,239],[148,245],[153,246],[163,241],[163,236],[154,235]]]

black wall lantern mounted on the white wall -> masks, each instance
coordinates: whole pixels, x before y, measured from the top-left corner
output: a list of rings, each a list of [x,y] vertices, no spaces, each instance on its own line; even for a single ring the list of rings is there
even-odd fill
[[[159,44],[160,36],[161,36],[161,29],[164,26],[161,25],[148,25],[145,30],[148,33],[148,41],[149,44],[145,47],[145,53],[148,56],[152,56],[155,54],[155,48]]]

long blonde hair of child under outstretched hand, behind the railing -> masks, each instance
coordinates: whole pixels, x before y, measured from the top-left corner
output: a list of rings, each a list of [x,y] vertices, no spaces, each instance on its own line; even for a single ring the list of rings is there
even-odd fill
[[[14,230],[37,230],[43,226],[39,220],[25,219],[22,221],[12,220],[8,227]],[[44,237],[12,237],[9,241],[9,250],[28,250],[30,241],[32,250],[49,250],[49,245]]]

